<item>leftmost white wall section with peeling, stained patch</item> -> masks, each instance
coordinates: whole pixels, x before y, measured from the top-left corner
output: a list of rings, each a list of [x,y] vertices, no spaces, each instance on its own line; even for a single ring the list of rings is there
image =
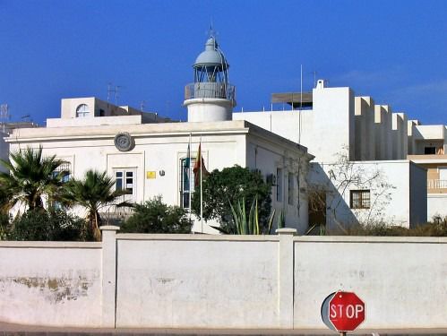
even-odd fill
[[[100,326],[101,244],[0,242],[0,321]]]

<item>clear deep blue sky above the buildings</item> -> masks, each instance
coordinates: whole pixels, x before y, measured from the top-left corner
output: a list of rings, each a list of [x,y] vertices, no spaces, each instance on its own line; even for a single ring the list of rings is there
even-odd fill
[[[447,124],[447,1],[0,0],[0,103],[44,125],[60,99],[107,99],[186,119],[184,87],[213,22],[236,111],[316,77]],[[115,98],[111,100],[115,102]]]

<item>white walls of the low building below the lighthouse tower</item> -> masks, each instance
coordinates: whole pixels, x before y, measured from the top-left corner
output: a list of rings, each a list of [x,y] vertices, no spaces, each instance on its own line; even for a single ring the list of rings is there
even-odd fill
[[[81,101],[74,104],[79,105]],[[124,122],[119,123],[122,118]],[[11,151],[42,146],[44,155],[69,162],[73,177],[81,178],[86,170],[94,168],[107,171],[120,182],[127,183],[129,178],[127,187],[132,194],[122,196],[122,201],[144,202],[161,195],[163,202],[181,205],[181,160],[186,158],[191,136],[192,157],[196,157],[202,142],[202,156],[209,171],[239,165],[260,169],[263,176],[277,175],[278,171],[281,179],[293,176],[292,184],[282,191],[283,197],[274,199],[272,206],[285,213],[288,227],[299,232],[307,228],[307,203],[300,186],[306,183],[306,167],[313,157],[305,147],[245,121],[138,124],[139,120],[129,118],[133,116],[92,117],[90,125],[85,122],[87,118],[68,119],[70,124],[66,126],[21,129],[6,141]],[[105,125],[108,120],[112,123]],[[116,134],[123,133],[133,138],[130,151],[116,148]],[[199,223],[193,229],[214,232]]]

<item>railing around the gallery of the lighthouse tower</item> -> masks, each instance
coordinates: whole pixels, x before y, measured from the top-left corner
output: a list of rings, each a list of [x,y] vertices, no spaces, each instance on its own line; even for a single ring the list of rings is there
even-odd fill
[[[185,86],[185,99],[218,98],[235,101],[236,88],[223,82],[193,82]]]

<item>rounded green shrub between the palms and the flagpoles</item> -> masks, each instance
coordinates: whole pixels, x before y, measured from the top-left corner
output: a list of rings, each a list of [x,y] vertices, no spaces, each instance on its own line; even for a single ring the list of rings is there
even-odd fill
[[[128,233],[190,233],[192,222],[187,212],[161,201],[161,197],[135,204],[133,215],[121,226]]]

